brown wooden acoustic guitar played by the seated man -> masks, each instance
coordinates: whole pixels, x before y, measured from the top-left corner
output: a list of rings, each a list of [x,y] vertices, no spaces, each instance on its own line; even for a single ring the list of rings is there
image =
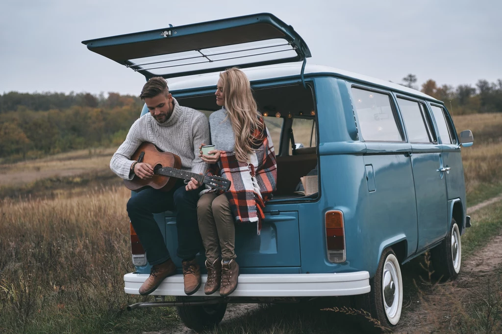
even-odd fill
[[[130,190],[138,190],[150,186],[161,191],[169,191],[176,184],[176,179],[190,180],[192,177],[198,182],[207,184],[211,188],[228,190],[231,182],[219,176],[206,176],[181,170],[181,159],[176,154],[162,152],[152,143],[143,143],[138,147],[131,160],[148,163],[154,168],[154,176],[141,179],[136,176],[132,180],[124,180]]]

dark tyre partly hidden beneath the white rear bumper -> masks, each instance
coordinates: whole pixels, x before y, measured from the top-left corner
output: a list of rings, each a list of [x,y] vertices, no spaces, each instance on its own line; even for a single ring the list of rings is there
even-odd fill
[[[176,301],[189,301],[193,298],[177,296]],[[204,329],[209,329],[217,325],[223,319],[226,311],[226,303],[218,303],[211,305],[202,306],[176,306],[178,310],[178,315],[185,324],[190,329],[196,332],[201,332]]]

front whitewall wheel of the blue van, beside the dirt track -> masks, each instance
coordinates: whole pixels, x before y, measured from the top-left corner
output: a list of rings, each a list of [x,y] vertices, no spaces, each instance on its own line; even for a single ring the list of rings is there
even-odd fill
[[[434,273],[441,280],[457,278],[462,261],[462,244],[460,230],[455,219],[451,219],[450,231],[446,238],[431,249],[431,260]]]

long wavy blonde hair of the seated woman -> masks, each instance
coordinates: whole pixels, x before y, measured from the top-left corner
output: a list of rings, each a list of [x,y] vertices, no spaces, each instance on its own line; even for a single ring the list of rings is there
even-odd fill
[[[235,136],[235,157],[240,162],[246,162],[253,147],[263,142],[265,125],[244,72],[234,67],[221,72],[220,79],[225,109]]]

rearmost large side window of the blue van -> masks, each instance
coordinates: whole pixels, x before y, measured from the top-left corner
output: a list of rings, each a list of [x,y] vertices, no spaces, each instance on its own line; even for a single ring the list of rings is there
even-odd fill
[[[389,95],[352,87],[352,96],[364,141],[403,141]]]

